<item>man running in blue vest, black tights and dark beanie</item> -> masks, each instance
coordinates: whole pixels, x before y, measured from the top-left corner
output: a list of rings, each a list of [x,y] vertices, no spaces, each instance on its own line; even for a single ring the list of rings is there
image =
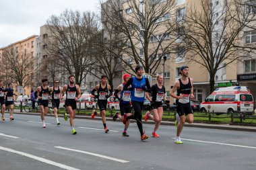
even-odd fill
[[[132,77],[123,87],[124,90],[127,90],[131,85],[131,105],[133,105],[134,114],[131,116],[125,115],[123,118],[123,123],[126,124],[127,120],[133,119],[137,120],[137,126],[141,134],[141,140],[146,140],[148,136],[143,132],[142,127],[142,109],[143,102],[145,100],[145,91],[151,92],[150,83],[146,77],[143,76],[143,68],[140,65],[135,67],[136,77]]]

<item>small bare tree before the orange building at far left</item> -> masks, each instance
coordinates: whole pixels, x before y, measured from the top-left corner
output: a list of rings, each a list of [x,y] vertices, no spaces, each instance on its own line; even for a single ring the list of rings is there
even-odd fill
[[[36,72],[35,58],[25,52],[15,52],[14,46],[3,50],[3,78],[5,83],[16,83],[20,86],[32,85]]]

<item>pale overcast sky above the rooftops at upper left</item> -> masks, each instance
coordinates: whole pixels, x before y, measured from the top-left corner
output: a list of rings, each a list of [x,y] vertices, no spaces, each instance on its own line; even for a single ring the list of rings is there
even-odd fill
[[[99,12],[98,0],[0,0],[0,48],[39,35],[51,15],[65,9]]]

